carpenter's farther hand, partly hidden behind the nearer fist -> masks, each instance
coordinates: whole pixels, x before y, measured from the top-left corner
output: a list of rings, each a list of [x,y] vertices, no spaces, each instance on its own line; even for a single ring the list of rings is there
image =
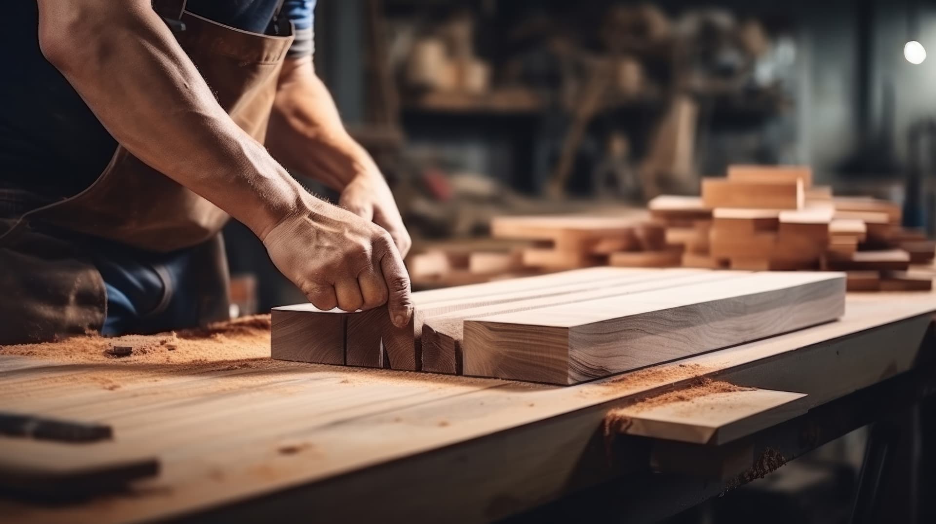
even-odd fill
[[[351,182],[344,186],[338,203],[364,220],[373,221],[377,226],[387,229],[400,255],[405,257],[413,245],[413,240],[406,232],[406,226],[403,226],[400,211],[387,181],[373,165],[373,161],[367,160],[368,167],[360,170]]]

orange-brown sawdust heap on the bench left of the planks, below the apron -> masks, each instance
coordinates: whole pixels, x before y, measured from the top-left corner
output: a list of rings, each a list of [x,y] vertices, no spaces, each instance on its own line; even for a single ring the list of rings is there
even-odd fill
[[[63,364],[112,362],[196,364],[270,357],[270,315],[245,316],[207,328],[184,329],[154,335],[102,337],[99,333],[63,341],[0,346],[0,355],[37,357]],[[114,347],[130,347],[130,354],[115,357]]]

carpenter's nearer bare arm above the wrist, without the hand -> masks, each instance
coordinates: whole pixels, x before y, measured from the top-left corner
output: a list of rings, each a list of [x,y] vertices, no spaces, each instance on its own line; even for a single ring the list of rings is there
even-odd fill
[[[38,0],[39,41],[127,150],[263,238],[308,196],[215,101],[150,2]]]

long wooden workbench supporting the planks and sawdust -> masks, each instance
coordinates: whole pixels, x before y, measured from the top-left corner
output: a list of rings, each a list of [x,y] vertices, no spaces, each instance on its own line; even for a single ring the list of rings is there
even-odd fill
[[[914,370],[933,312],[936,294],[853,295],[838,322],[570,387],[266,358],[115,371],[111,363],[0,352],[0,381],[16,385],[0,409],[107,422],[115,440],[80,444],[83,457],[161,463],[157,477],[127,492],[53,506],[0,500],[0,515],[5,522],[509,517],[648,471],[652,450],[622,445],[639,439],[614,444],[602,434],[609,409],[699,376],[806,393],[797,402],[818,409]],[[108,386],[118,379],[120,387]],[[54,459],[74,454],[75,445],[44,449]],[[0,459],[23,453],[29,443],[0,438]]]

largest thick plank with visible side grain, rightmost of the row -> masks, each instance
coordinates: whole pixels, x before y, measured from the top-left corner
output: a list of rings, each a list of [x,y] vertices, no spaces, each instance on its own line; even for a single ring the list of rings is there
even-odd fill
[[[839,273],[754,273],[464,323],[464,374],[577,384],[834,320]]]

